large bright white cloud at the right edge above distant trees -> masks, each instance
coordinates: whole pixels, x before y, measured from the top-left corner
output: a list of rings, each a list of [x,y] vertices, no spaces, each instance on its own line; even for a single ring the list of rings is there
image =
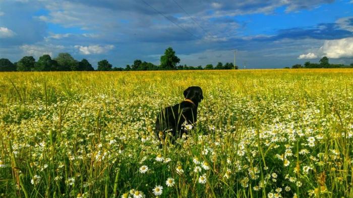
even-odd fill
[[[353,57],[353,37],[325,40],[320,51],[328,58]]]

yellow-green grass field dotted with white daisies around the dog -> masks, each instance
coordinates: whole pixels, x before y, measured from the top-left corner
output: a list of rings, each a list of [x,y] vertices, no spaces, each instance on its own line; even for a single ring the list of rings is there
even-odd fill
[[[352,139],[350,69],[0,73],[0,197],[353,197]]]

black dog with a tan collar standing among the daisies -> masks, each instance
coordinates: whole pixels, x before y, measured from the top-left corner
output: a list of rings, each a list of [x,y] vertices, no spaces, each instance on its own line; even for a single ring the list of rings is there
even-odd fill
[[[168,106],[158,113],[156,120],[156,136],[162,142],[170,131],[172,142],[188,131],[183,124],[194,124],[197,121],[197,107],[203,99],[200,87],[189,87],[184,91],[185,100],[174,106]]]

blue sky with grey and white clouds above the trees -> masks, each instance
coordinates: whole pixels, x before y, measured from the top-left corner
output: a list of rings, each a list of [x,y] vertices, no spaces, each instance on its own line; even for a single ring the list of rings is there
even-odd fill
[[[241,68],[325,55],[350,64],[353,1],[0,0],[0,57],[13,62],[69,52],[94,67],[101,59],[114,67],[135,59],[159,64],[169,46],[181,64],[195,66],[232,62],[233,49]]]

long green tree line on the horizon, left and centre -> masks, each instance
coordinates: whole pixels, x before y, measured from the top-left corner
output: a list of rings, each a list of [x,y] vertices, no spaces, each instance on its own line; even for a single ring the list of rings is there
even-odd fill
[[[175,51],[169,47],[160,57],[160,65],[137,59],[133,64],[126,65],[125,68],[112,67],[108,60],[103,59],[98,62],[96,71],[153,71],[153,70],[231,70],[234,69],[233,63],[218,62],[213,67],[207,64],[204,68],[199,65],[197,67],[188,65],[177,65],[180,58],[175,55]],[[235,67],[238,69],[238,66]],[[59,53],[57,57],[51,58],[45,54],[36,61],[33,56],[24,56],[18,62],[12,63],[7,58],[0,59],[0,72],[31,72],[31,71],[95,71],[91,63],[83,58],[81,61],[76,60],[69,53]]]

